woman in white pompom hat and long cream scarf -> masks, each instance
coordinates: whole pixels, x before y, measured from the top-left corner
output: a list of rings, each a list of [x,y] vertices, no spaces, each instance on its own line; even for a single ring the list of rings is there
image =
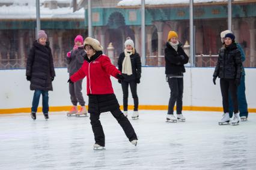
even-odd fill
[[[121,83],[123,90],[124,116],[127,117],[128,114],[128,87],[130,85],[134,104],[132,119],[138,119],[139,99],[137,95],[137,84],[140,83],[141,78],[141,57],[136,53],[134,42],[130,37],[124,42],[124,46],[124,52],[121,53],[118,58],[118,69],[124,76],[123,81],[118,80],[118,82]]]

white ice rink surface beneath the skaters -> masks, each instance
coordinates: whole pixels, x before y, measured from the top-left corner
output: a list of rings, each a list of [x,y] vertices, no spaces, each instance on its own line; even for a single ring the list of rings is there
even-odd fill
[[[256,169],[256,114],[239,126],[219,126],[222,113],[183,111],[186,122],[167,123],[166,111],[140,111],[129,120],[130,144],[111,113],[100,120],[106,150],[94,151],[89,117],[50,113],[0,115],[0,169]]]

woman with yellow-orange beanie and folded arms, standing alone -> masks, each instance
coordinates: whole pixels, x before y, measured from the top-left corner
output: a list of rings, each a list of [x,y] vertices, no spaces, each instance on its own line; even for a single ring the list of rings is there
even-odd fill
[[[175,31],[169,31],[168,42],[165,48],[165,74],[166,81],[171,89],[169,98],[168,113],[166,120],[177,122],[185,121],[182,114],[182,98],[183,98],[183,72],[186,72],[184,64],[189,61],[181,43],[178,41],[178,34]],[[174,105],[176,103],[177,119],[174,116]]]

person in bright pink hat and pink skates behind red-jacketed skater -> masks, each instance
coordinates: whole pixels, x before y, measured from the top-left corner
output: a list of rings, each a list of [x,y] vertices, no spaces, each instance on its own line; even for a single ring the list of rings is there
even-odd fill
[[[69,64],[67,66],[67,71],[69,72],[69,77],[78,71],[84,63],[84,56],[86,55],[86,52],[84,50],[83,43],[83,37],[81,35],[76,36],[73,50],[67,53],[67,63]],[[82,81],[83,79],[76,81],[76,83],[69,84],[70,99],[73,107],[69,113],[67,113],[67,116],[87,116],[87,109],[85,108],[85,101],[82,94]],[[78,102],[81,105],[80,111],[78,111]]]

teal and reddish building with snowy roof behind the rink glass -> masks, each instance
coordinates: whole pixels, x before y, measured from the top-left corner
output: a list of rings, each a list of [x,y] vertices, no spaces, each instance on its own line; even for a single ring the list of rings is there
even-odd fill
[[[23,68],[24,59],[35,37],[35,3],[28,0],[0,2],[0,68]],[[76,34],[88,35],[88,0],[41,0],[41,29],[49,35],[55,66],[66,66],[65,54],[73,45]],[[124,49],[124,41],[131,37],[141,53],[141,0],[93,0],[93,37],[108,54],[112,42],[112,62]],[[221,47],[220,32],[228,28],[227,1],[194,1],[195,66],[215,66]],[[255,67],[256,1],[232,2],[232,30],[236,41],[246,53],[244,66]],[[6,15],[6,16],[5,16]],[[189,0],[146,0],[146,65],[164,66],[163,49],[169,30],[178,32],[181,43],[189,42]],[[114,47],[114,48],[113,48]],[[189,48],[189,45],[186,45]],[[109,48],[110,49],[110,48]],[[111,53],[112,54],[112,53]]]

